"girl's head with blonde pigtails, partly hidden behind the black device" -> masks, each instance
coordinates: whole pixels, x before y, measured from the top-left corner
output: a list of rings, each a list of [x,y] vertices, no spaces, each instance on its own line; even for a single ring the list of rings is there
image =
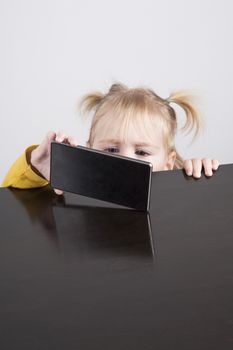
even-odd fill
[[[103,94],[92,92],[80,103],[82,112],[94,110],[87,147],[149,161],[153,171],[182,167],[182,158],[175,148],[176,112],[170,103],[177,103],[186,114],[182,130],[200,130],[201,119],[185,92],[172,93],[168,99],[149,88],[128,88],[113,84]],[[190,131],[190,130],[189,130]]]

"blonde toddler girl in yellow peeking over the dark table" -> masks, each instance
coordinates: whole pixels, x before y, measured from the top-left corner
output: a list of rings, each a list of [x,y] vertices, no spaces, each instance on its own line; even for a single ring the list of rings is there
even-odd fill
[[[190,95],[184,91],[173,92],[167,99],[159,97],[150,88],[128,88],[113,84],[106,94],[92,92],[80,102],[81,114],[94,111],[86,147],[123,156],[142,159],[153,164],[153,171],[182,169],[189,176],[212,176],[219,162],[216,159],[194,158],[183,160],[176,150],[176,103],[183,108],[186,123],[183,130],[201,130],[201,118]],[[50,143],[66,142],[77,146],[78,141],[64,132],[48,132],[40,145],[31,145],[14,162],[3,186],[35,188],[46,186],[50,177]],[[57,194],[63,191],[56,189]]]

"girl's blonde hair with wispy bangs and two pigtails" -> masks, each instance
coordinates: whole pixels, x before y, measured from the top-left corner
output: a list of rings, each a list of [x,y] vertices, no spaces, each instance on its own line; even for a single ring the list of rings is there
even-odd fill
[[[131,120],[143,122],[145,126],[146,117],[151,121],[159,122],[164,139],[164,147],[167,154],[176,152],[174,169],[183,167],[183,159],[176,150],[174,140],[177,132],[177,117],[174,108],[170,103],[179,105],[185,112],[186,122],[182,131],[188,133],[195,131],[193,140],[199,134],[202,124],[197,107],[193,103],[193,97],[186,91],[174,91],[166,99],[158,96],[148,87],[128,88],[125,84],[114,83],[109,91],[104,94],[100,91],[93,91],[84,95],[79,103],[81,116],[93,111],[94,116],[91,123],[88,144],[92,147],[95,130],[98,121],[105,115],[113,112],[113,116],[122,118],[122,128],[127,129]],[[146,128],[142,131],[146,132]]]

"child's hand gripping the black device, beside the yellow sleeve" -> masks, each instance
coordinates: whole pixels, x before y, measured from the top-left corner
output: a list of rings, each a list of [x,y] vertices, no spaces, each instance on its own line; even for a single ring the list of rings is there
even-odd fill
[[[50,131],[47,133],[42,143],[32,151],[29,161],[32,168],[48,181],[50,179],[50,144],[52,141],[78,146],[77,140],[72,136],[66,135],[63,131],[58,131],[57,133]],[[61,190],[54,189],[54,191],[57,194],[63,194]]]

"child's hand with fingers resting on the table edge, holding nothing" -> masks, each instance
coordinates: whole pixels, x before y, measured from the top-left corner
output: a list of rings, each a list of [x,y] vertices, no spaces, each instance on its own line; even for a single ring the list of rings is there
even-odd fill
[[[219,161],[217,159],[211,160],[209,158],[193,158],[185,160],[183,163],[183,167],[187,175],[193,175],[196,178],[200,178],[202,167],[204,167],[206,176],[212,176],[212,170],[218,169]]]

